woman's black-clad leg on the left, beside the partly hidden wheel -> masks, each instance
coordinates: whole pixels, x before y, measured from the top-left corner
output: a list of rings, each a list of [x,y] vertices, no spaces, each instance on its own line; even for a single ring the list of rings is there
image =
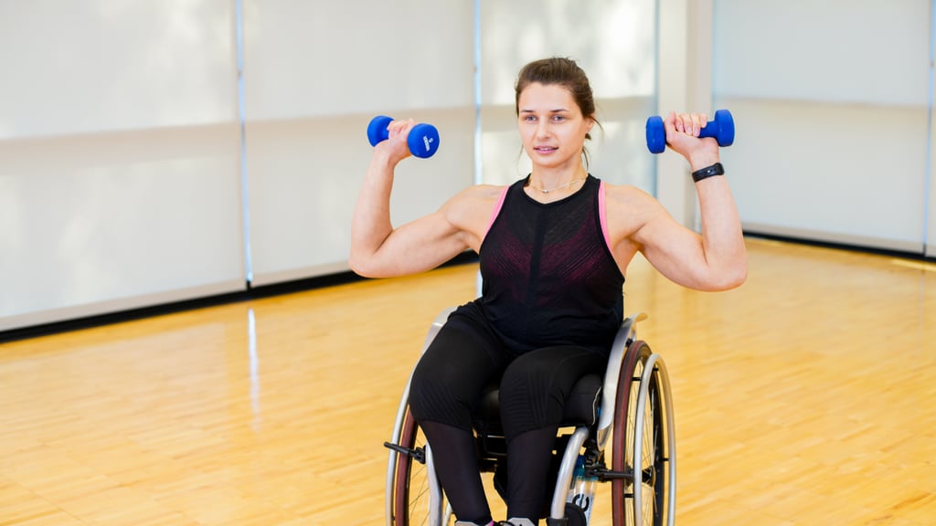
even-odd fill
[[[458,314],[439,329],[419,359],[410,384],[410,409],[434,452],[435,472],[455,516],[488,524],[475,455],[471,415],[483,387],[504,368],[500,344],[488,330]]]

